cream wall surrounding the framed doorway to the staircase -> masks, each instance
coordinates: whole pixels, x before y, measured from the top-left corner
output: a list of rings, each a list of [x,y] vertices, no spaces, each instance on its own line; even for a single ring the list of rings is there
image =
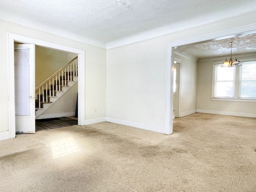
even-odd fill
[[[7,32],[84,50],[85,74],[79,74],[85,76],[86,110],[83,118],[106,116],[106,50],[0,20],[0,81],[3,82],[0,84],[0,140],[5,139],[6,131],[8,131]],[[95,108],[97,113],[93,113]]]

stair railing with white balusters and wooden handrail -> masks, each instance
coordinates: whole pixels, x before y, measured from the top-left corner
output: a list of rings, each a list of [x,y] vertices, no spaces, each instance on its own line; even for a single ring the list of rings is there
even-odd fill
[[[67,86],[67,81],[72,81],[73,76],[78,76],[77,56],[68,64],[52,74],[48,79],[35,88],[35,95],[38,95],[38,108],[42,103],[49,103],[50,96],[56,96],[56,91],[61,91],[62,86]],[[41,98],[42,94],[42,98]]]

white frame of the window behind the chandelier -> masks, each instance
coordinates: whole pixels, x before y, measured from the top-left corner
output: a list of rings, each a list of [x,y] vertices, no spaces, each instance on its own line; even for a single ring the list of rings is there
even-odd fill
[[[256,62],[256,58],[241,60],[241,63]],[[256,98],[241,98],[241,84],[242,84],[242,66],[234,66],[234,84],[233,93],[234,97],[215,97],[216,92],[216,75],[217,66],[221,65],[222,62],[213,62],[212,65],[212,101],[238,101],[238,102],[256,102]]]

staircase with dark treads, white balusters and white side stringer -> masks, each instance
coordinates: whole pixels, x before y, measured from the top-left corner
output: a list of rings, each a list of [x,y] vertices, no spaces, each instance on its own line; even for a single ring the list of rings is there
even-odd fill
[[[36,119],[78,81],[77,57],[35,88]]]

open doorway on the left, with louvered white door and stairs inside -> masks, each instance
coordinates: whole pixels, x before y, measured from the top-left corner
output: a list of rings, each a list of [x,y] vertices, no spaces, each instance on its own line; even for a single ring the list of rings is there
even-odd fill
[[[69,64],[70,61],[77,57],[77,54],[45,48],[34,44],[22,44],[20,42],[14,42],[14,48],[16,134],[35,133],[35,131],[38,130],[77,125],[75,111],[77,108],[78,83],[77,77],[72,79],[72,74],[70,74],[69,80],[76,80],[76,83],[65,83],[63,81],[63,79],[65,80],[65,76],[63,76],[63,74],[60,76],[60,79],[63,81],[61,82],[62,85],[60,85],[60,88],[63,86],[65,87],[65,89],[63,88],[64,90],[70,88],[64,97],[61,97],[61,100],[57,101],[56,98],[53,97],[55,95],[55,81],[54,83],[53,81],[47,81],[48,83],[51,82],[54,84],[54,86],[48,84],[47,89],[47,82],[44,84],[46,85],[44,87],[44,98],[47,97],[47,101],[50,103],[55,100],[56,102],[52,103],[45,112],[38,116],[39,118],[35,118],[35,111],[37,113],[37,110],[43,110],[42,98],[40,100],[40,103],[42,103],[40,104],[41,108],[39,108],[38,92],[35,93],[35,87],[45,82],[49,76],[56,73],[60,68]],[[28,53],[26,54],[26,52]],[[21,68],[21,66],[23,67]],[[30,74],[29,76],[27,75],[28,73]],[[73,71],[73,73],[77,76],[77,72],[75,73]],[[29,88],[30,91],[28,92]],[[42,90],[40,97],[43,97]],[[69,102],[66,102],[67,100]],[[34,101],[36,101],[36,103]],[[30,108],[28,108],[28,106],[30,106]]]

